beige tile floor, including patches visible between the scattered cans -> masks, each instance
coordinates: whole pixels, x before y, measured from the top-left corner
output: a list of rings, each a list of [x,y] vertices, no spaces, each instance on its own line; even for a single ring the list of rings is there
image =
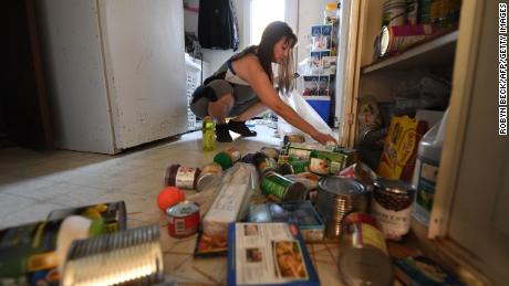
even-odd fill
[[[152,144],[116,156],[0,149],[0,229],[44,220],[55,209],[122,200],[127,208],[128,229],[159,224],[167,277],[179,285],[224,285],[226,257],[193,258],[196,235],[183,240],[170,237],[156,197],[170,163],[199,167],[212,161],[217,151],[233,146],[245,153],[264,146],[280,146],[274,129],[257,125],[256,130],[257,137],[233,137],[233,142],[218,142],[217,150],[210,152],[201,150],[199,131],[184,135],[177,141]],[[187,191],[186,197],[194,193]],[[323,285],[337,285],[337,243],[308,247]]]

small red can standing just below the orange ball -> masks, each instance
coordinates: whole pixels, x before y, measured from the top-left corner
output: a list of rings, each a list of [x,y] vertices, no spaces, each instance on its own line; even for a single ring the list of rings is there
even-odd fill
[[[198,204],[184,201],[166,211],[168,215],[168,234],[176,239],[195,234],[199,226]]]

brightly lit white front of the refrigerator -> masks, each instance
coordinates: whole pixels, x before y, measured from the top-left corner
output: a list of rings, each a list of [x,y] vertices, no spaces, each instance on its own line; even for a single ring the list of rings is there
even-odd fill
[[[98,3],[116,149],[187,131],[181,1]]]

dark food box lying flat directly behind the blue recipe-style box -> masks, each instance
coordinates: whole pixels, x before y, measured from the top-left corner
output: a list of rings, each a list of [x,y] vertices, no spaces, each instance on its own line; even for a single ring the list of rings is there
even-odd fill
[[[323,222],[309,201],[251,204],[248,222],[288,222],[297,224],[307,242],[323,240]]]

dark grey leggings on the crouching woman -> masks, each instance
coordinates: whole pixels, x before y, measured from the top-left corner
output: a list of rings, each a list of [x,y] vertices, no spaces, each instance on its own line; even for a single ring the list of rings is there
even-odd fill
[[[227,94],[231,94],[233,96],[233,108],[231,108],[228,114],[229,117],[239,116],[249,109],[249,107],[260,102],[260,98],[258,98],[250,86],[240,84],[231,85],[225,80],[214,80],[206,86],[198,87],[197,92],[195,92],[193,96],[199,96],[199,93],[202,92],[205,87],[210,87],[217,99]],[[208,116],[208,104],[210,102],[212,102],[212,99],[208,97],[200,97],[196,102],[191,103],[190,109],[196,116],[205,118]]]

